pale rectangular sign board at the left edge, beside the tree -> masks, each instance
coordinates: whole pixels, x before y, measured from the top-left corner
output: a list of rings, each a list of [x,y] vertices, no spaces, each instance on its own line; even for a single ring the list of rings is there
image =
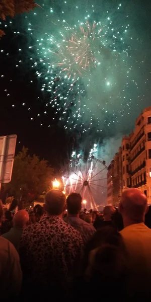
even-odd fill
[[[0,184],[12,177],[17,135],[0,136]]]

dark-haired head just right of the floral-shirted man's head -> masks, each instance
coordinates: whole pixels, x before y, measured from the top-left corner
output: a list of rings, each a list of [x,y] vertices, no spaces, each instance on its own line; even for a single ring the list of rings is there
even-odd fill
[[[80,194],[71,193],[66,199],[66,206],[70,215],[77,215],[82,208],[82,197]]]

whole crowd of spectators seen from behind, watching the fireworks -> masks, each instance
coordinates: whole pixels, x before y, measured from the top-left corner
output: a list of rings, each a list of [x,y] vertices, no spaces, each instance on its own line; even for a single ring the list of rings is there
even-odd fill
[[[82,211],[80,194],[54,189],[32,213],[1,204],[1,300],[150,299],[150,224],[135,188],[103,214]]]

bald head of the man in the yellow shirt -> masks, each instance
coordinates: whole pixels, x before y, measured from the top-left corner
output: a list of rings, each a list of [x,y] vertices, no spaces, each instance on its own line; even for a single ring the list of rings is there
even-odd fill
[[[147,212],[147,198],[144,193],[135,188],[130,188],[122,193],[119,206],[123,219],[143,222]],[[133,223],[134,223],[133,222]]]

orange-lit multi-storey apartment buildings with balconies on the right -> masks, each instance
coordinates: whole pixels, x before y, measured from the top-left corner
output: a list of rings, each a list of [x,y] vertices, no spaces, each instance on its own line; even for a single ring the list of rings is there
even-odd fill
[[[138,116],[134,131],[129,136],[123,137],[119,163],[122,171],[117,178],[122,183],[121,192],[129,187],[138,188],[147,196],[147,201],[151,204],[151,107],[145,108]],[[109,182],[108,175],[107,182]],[[121,192],[119,196],[121,196]],[[112,204],[114,204],[114,200],[117,200],[115,194],[118,193],[112,182],[112,195],[110,196]]]

